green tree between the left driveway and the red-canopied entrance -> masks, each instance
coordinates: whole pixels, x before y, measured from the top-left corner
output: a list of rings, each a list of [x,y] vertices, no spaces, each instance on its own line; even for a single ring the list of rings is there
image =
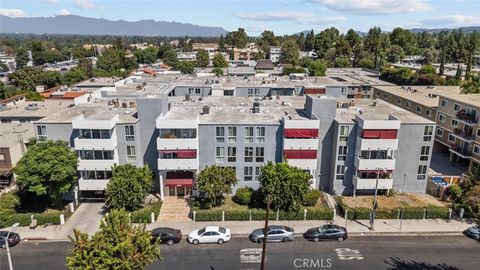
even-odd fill
[[[152,188],[153,173],[148,166],[114,165],[112,178],[105,189],[105,205],[128,211],[139,209]]]

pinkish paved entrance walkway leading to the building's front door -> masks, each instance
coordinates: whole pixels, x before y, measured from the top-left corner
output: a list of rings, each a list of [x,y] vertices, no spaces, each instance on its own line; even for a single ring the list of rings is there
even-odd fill
[[[190,221],[189,213],[190,207],[185,199],[177,198],[176,196],[165,196],[157,222]]]

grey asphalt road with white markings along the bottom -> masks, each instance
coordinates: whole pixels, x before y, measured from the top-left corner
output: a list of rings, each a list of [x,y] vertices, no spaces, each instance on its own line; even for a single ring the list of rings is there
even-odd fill
[[[65,269],[68,242],[24,242],[11,249],[15,270]],[[161,246],[162,260],[147,269],[259,269],[261,244],[233,238],[223,245]],[[269,243],[266,269],[479,269],[480,245],[464,236],[369,236],[344,242]],[[0,250],[0,270],[7,270]]]

